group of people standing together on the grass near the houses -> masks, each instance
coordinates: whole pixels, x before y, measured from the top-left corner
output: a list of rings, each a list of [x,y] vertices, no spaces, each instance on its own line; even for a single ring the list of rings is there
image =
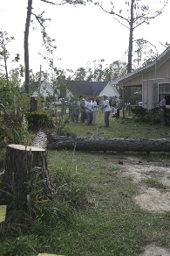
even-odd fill
[[[116,97],[115,97],[116,99]],[[112,109],[111,109],[112,106]],[[123,98],[119,96],[119,100],[115,103],[109,102],[106,96],[103,96],[102,102],[99,102],[99,97],[87,97],[78,98],[71,102],[70,114],[74,122],[78,123],[78,118],[80,114],[81,123],[87,122],[87,125],[96,124],[96,113],[97,110],[102,110],[105,112],[105,128],[109,127],[109,117],[111,110],[119,118],[119,110],[123,107]]]

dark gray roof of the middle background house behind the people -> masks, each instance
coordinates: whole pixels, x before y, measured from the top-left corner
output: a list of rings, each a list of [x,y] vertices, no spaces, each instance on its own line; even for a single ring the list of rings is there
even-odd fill
[[[66,86],[74,96],[99,96],[108,83],[108,81],[66,81]]]

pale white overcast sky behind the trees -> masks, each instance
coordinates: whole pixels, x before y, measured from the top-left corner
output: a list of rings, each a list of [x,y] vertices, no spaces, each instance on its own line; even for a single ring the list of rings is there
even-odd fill
[[[154,2],[154,0],[150,1]],[[122,6],[125,4],[125,0],[114,0],[114,2],[119,3],[120,7],[121,4]],[[16,53],[21,54],[19,63],[24,65],[24,26],[27,4],[27,0],[0,0],[0,29],[8,32],[9,36],[15,37],[15,40],[7,47],[10,52],[8,60],[10,68],[17,68],[11,62]],[[78,68],[85,68],[87,63],[90,63],[92,68],[94,60],[104,59],[105,65],[109,65],[114,60],[126,60],[128,29],[98,6],[92,4],[77,7],[70,4],[55,6],[40,0],[33,0],[32,12],[38,15],[43,11],[45,11],[44,18],[51,18],[46,31],[51,39],[55,39],[57,46],[53,57],[55,67],[75,71]],[[162,53],[165,47],[161,46],[160,42],[170,43],[169,13],[170,3],[167,4],[164,13],[153,19],[150,25],[140,25],[135,29],[133,39],[146,39],[153,45],[151,45],[153,51]],[[38,54],[45,54],[38,27],[37,30],[32,28],[30,30],[29,51],[30,68],[33,72],[39,71],[40,66],[46,72],[48,65]]]

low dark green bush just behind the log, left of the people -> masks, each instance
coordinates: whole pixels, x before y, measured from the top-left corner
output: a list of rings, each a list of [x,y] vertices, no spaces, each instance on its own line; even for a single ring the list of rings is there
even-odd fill
[[[52,128],[53,122],[50,114],[44,111],[28,112],[25,114],[29,128]]]

